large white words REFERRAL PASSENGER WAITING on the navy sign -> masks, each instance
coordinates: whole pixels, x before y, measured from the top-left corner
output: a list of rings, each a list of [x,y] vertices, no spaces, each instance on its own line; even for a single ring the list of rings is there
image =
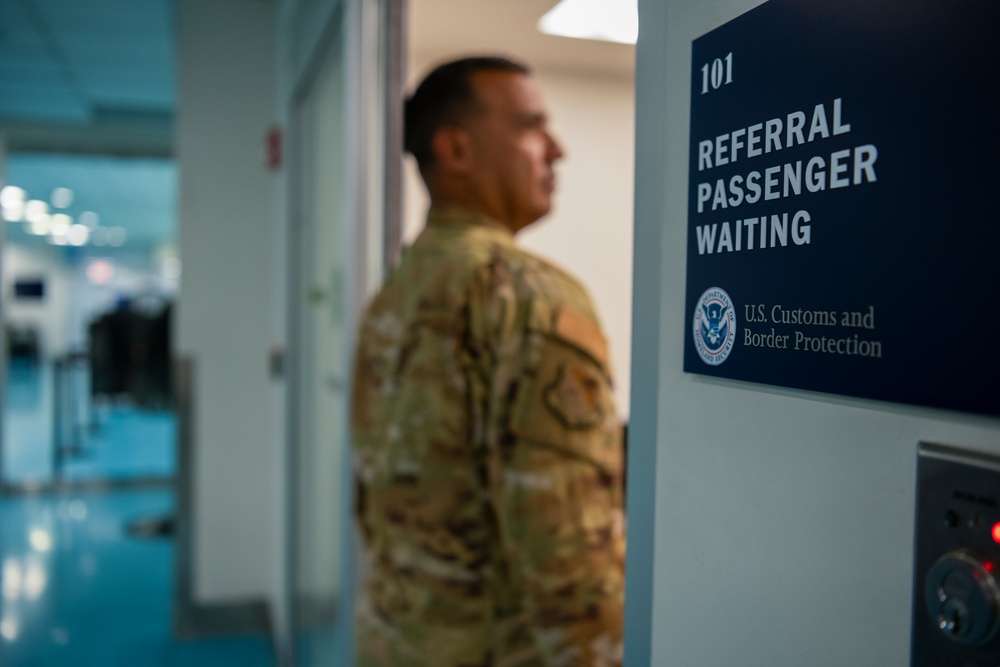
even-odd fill
[[[705,172],[740,160],[754,160],[787,148],[829,139],[851,131],[844,122],[843,99],[817,104],[812,114],[793,111],[783,117],[741,127],[698,143],[698,171]],[[752,169],[729,178],[698,183],[697,212],[734,209],[743,204],[770,202],[803,193],[837,190],[878,180],[878,148],[863,144],[830,151],[807,160],[788,161]],[[735,222],[698,225],[698,254],[739,252],[812,243],[812,216],[756,213]]]

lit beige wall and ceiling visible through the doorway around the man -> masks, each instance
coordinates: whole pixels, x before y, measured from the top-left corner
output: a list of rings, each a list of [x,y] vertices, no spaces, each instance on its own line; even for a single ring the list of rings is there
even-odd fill
[[[504,55],[532,69],[566,157],[556,164],[559,187],[553,212],[518,234],[518,243],[568,269],[590,292],[610,343],[616,406],[627,421],[635,46],[543,32],[543,18],[558,4],[558,0],[410,3],[407,90],[435,64],[470,54]],[[601,23],[629,22],[616,7],[626,13],[635,11],[628,2],[579,4],[587,5],[591,13],[610,12],[598,17],[603,21],[596,28]],[[590,27],[585,25],[583,32]],[[634,33],[630,37],[634,39]],[[427,208],[423,185],[409,156],[405,186],[404,245],[419,233]]]

